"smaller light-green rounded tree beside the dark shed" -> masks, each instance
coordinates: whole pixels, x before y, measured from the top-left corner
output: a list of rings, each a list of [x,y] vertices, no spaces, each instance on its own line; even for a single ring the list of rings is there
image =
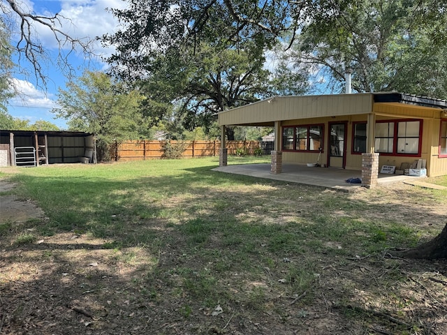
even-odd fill
[[[139,91],[93,71],[68,81],[66,87],[59,89],[61,107],[53,112],[68,119],[69,130],[96,135],[98,159],[108,158],[108,146],[114,142],[149,136],[147,120],[139,110],[144,99]]]

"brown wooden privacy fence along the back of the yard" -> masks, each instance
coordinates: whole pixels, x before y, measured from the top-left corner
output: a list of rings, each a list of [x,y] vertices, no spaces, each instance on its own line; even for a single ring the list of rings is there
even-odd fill
[[[121,144],[115,144],[110,149],[112,161],[143,161],[145,159],[164,158],[166,143],[171,147],[182,146],[182,157],[219,156],[220,141],[157,141],[157,140],[133,140]],[[254,150],[260,148],[258,141],[226,141],[228,155],[235,155],[237,149],[244,149],[246,154],[253,155]]]

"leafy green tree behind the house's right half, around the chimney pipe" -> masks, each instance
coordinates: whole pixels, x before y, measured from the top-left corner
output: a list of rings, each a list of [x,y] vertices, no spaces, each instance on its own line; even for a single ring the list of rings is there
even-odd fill
[[[319,70],[331,91],[342,91],[345,68],[352,68],[358,92],[446,97],[446,38],[433,29],[445,27],[427,19],[446,22],[445,13],[445,4],[430,0],[310,1],[295,61]]]

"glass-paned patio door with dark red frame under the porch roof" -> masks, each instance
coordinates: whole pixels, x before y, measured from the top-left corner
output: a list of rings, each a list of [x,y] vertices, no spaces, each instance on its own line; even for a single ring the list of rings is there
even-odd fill
[[[328,166],[342,168],[346,165],[346,122],[329,124]]]

